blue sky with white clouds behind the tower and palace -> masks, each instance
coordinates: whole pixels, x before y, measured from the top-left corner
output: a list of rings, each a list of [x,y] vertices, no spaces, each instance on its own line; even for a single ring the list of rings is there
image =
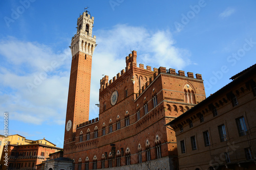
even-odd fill
[[[202,74],[206,95],[256,63],[255,1],[0,2],[0,112],[10,134],[63,147],[71,66],[69,45],[79,14],[95,17],[90,119],[98,117],[99,81],[137,64]],[[110,69],[111,68],[111,69]],[[0,133],[3,134],[3,114]]]

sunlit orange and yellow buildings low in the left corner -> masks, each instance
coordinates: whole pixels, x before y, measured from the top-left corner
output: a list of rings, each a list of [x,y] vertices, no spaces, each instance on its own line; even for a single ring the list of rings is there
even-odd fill
[[[44,139],[29,140],[20,135],[10,135],[8,140],[8,166],[4,165],[2,153],[1,169],[35,169],[35,165],[50,157],[50,154],[62,150]]]

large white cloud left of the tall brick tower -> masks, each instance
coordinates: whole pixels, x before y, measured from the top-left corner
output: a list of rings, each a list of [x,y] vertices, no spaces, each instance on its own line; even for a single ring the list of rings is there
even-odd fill
[[[71,58],[49,46],[13,37],[0,41],[0,112],[10,119],[40,125],[65,120]],[[70,70],[70,68],[69,68]],[[60,121],[59,121],[60,122]]]

